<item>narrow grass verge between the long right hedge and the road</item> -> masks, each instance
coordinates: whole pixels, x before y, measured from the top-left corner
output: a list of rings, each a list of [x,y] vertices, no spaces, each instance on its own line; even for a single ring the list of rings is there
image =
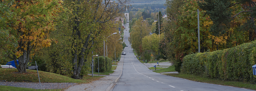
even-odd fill
[[[203,83],[212,83],[212,84],[219,84],[219,85],[225,85],[225,86],[232,86],[232,87],[239,87],[239,88],[247,88],[247,89],[256,89],[256,84],[251,84],[249,82],[235,82],[235,81],[222,81],[220,79],[211,79],[208,77],[201,77],[191,74],[165,74],[168,76],[178,77],[178,78],[184,78],[192,81],[197,82],[203,82]]]

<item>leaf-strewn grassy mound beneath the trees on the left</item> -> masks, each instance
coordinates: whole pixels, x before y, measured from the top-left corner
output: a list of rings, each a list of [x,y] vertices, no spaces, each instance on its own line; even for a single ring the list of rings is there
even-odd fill
[[[16,73],[17,69],[3,69],[0,68],[0,80],[8,82],[34,82],[38,83],[38,76],[36,70],[27,70],[27,73]],[[103,76],[83,76],[83,79],[73,79],[70,76],[59,75],[51,72],[38,71],[41,83],[89,83]]]

